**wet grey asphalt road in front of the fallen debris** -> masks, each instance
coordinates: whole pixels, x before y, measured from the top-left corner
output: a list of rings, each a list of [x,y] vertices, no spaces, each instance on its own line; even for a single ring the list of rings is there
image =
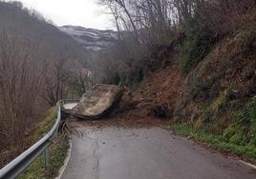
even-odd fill
[[[256,179],[256,169],[165,129],[77,129],[62,179]]]

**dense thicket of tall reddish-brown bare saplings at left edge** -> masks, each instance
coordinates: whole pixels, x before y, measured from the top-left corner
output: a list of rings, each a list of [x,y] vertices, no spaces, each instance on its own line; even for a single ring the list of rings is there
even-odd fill
[[[43,74],[35,50],[29,42],[0,34],[0,150],[22,144],[32,125]]]

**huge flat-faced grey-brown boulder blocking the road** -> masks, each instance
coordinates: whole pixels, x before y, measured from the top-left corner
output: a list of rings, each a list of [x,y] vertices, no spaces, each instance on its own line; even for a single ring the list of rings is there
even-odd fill
[[[102,118],[117,107],[121,97],[122,89],[119,87],[98,84],[83,94],[72,114],[80,119]]]

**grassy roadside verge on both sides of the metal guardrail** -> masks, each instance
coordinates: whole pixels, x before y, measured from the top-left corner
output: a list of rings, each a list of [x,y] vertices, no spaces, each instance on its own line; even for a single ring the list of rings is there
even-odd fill
[[[36,142],[42,138],[43,134],[52,129],[55,122],[55,108],[50,109],[46,118],[37,125],[32,132],[32,141]],[[32,165],[18,176],[19,179],[50,179],[58,174],[58,170],[64,163],[69,149],[68,138],[60,134],[54,139],[49,148],[49,167],[46,169],[44,164],[44,153],[39,156]]]

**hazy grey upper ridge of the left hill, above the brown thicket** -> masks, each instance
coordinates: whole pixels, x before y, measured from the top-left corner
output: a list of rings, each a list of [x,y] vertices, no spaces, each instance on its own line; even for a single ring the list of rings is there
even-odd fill
[[[0,2],[0,31],[3,30],[12,36],[30,39],[45,53],[63,54],[78,60],[86,57],[86,51],[74,38],[19,3]]]

